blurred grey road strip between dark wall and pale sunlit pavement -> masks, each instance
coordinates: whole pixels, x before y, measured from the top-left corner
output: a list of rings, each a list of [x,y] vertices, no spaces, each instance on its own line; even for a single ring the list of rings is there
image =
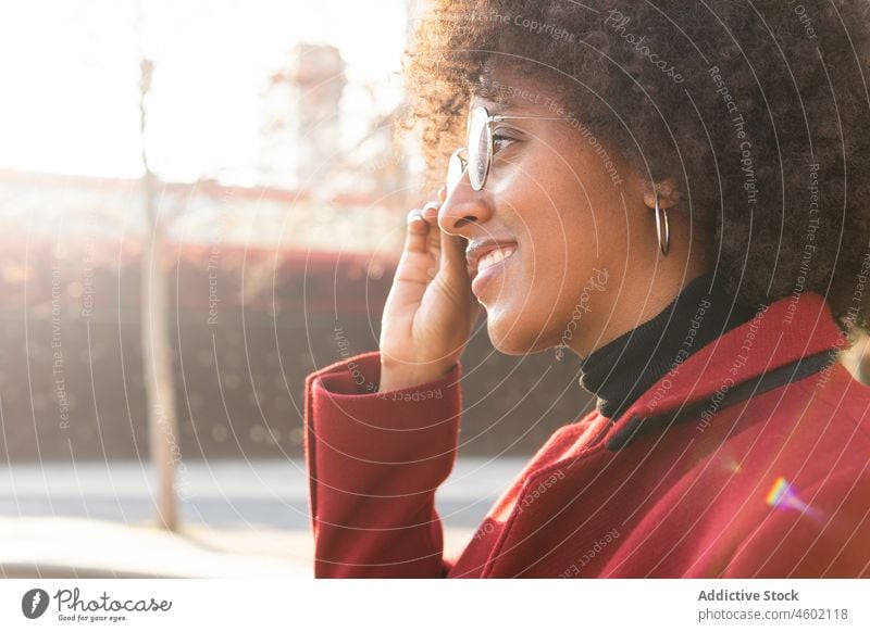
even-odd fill
[[[436,494],[446,528],[473,529],[520,471],[522,459],[463,458]],[[153,519],[154,479],[136,462],[0,467],[0,517],[63,516],[141,523]],[[302,460],[184,462],[184,522],[215,528],[308,529]]]

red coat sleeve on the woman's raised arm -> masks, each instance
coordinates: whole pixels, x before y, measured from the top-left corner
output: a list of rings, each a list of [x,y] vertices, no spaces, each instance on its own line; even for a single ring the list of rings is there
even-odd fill
[[[308,376],[315,577],[446,577],[435,491],[456,459],[460,374],[457,363],[436,381],[377,393],[372,352]]]

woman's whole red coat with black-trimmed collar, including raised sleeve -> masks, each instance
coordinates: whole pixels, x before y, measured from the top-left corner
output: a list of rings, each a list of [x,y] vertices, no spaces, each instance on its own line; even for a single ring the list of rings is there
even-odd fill
[[[434,495],[461,364],[386,397],[365,391],[376,352],[323,368],[306,381],[315,574],[870,577],[870,389],[831,364],[842,345],[820,296],[778,301],[618,419],[560,428],[456,560]]]

